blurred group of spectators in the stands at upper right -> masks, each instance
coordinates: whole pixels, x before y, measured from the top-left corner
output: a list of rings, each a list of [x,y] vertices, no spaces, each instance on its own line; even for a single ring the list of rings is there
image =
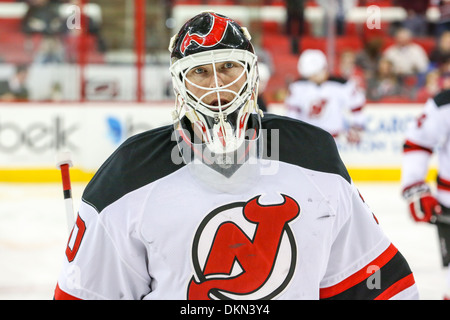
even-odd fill
[[[377,0],[343,2],[350,7],[378,3]],[[384,24],[383,36],[366,39],[361,51],[343,52],[337,72],[356,80],[369,101],[425,101],[439,90],[450,88],[450,0],[390,3],[404,8],[406,18]],[[434,22],[427,18],[427,10],[432,6],[439,11]],[[392,43],[386,46],[386,39]],[[421,45],[421,39],[432,40],[431,50]]]

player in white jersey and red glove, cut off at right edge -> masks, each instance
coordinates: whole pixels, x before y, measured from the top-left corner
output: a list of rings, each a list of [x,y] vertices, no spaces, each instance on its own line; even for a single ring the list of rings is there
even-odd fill
[[[436,191],[426,182],[430,158],[438,153]],[[414,221],[435,223],[442,263],[450,263],[450,90],[429,99],[407,133],[403,147],[402,193]],[[446,299],[450,299],[450,274]]]

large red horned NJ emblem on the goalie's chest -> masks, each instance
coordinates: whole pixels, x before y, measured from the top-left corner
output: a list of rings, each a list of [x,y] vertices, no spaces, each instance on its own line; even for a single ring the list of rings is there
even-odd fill
[[[283,234],[287,224],[300,213],[297,202],[289,196],[284,203],[262,206],[258,198],[247,202],[243,215],[248,221],[258,225],[253,237],[243,233],[232,222],[220,225],[208,254],[202,272],[202,281],[192,278],[188,288],[188,299],[210,299],[210,294],[220,295],[220,291],[244,295],[259,290],[271,277]],[[238,262],[242,272],[229,275]]]

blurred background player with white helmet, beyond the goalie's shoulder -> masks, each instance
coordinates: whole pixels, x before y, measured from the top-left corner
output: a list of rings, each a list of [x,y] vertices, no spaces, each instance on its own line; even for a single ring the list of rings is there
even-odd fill
[[[287,115],[358,143],[365,126],[364,91],[353,80],[331,76],[320,50],[303,51],[297,69],[301,78],[289,85]]]

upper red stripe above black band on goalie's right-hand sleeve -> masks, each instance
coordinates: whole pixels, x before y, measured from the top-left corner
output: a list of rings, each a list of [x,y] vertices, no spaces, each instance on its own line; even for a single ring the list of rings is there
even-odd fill
[[[375,260],[367,264],[365,267],[352,274],[350,277],[344,279],[343,281],[335,284],[334,286],[321,288],[320,289],[320,299],[327,299],[336,296],[355,285],[361,283],[362,281],[369,278],[372,274],[367,272],[370,266],[377,266],[380,269],[388,263],[396,254],[397,248],[391,244],[381,255],[379,255]]]

